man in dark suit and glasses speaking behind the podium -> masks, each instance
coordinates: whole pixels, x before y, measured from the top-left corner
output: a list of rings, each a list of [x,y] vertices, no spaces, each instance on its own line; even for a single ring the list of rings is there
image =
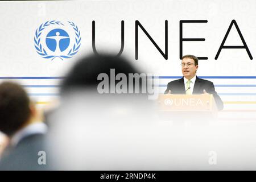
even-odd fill
[[[214,89],[213,82],[196,76],[198,58],[193,55],[185,55],[181,61],[183,76],[179,80],[168,82],[165,94],[212,94],[218,110],[223,109],[223,102]]]

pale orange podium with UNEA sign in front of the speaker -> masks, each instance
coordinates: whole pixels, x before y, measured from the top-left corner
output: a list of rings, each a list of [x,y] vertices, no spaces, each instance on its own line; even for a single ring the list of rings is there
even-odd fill
[[[217,118],[212,94],[159,94],[158,106],[164,120],[205,121]]]

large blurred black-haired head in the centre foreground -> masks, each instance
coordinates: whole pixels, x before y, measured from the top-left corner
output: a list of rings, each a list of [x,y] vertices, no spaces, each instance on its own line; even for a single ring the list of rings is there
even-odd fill
[[[113,55],[89,55],[83,57],[68,73],[64,79],[61,93],[72,92],[76,89],[90,89],[97,92],[97,80],[100,73],[106,73],[110,79],[110,69],[115,69],[115,75],[123,73],[127,77],[129,73],[139,73],[137,69],[124,57]]]

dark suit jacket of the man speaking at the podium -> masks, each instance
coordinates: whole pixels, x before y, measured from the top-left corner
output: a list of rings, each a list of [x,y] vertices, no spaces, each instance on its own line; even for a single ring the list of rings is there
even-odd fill
[[[179,80],[174,80],[174,81],[168,82],[167,89],[164,93],[167,94],[169,92],[169,90],[171,90],[171,94],[186,94],[183,78],[184,77],[182,77]],[[223,102],[222,102],[220,96],[218,96],[217,92],[215,91],[213,82],[201,79],[196,76],[196,81],[195,81],[195,85],[194,85],[192,94],[203,94],[204,93],[203,90],[205,90],[209,94],[213,94],[213,97],[214,97],[214,100],[218,107],[218,110],[222,110]]]

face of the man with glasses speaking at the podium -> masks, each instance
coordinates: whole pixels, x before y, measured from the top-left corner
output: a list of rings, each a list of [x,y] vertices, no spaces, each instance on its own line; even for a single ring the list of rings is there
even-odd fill
[[[185,64],[184,66],[181,67],[182,69],[182,74],[185,78],[190,80],[196,75],[196,71],[198,68],[198,65],[195,65],[195,61],[191,58],[185,57],[181,64]]]

